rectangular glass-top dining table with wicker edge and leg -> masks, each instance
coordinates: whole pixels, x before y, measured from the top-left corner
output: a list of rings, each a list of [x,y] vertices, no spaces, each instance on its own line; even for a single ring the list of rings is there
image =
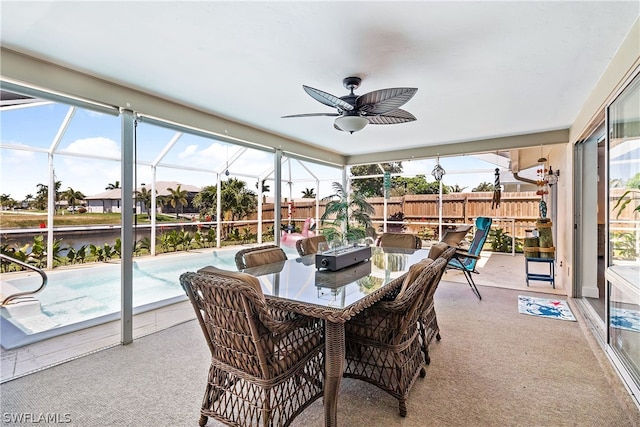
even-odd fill
[[[337,426],[345,363],[345,323],[399,288],[426,249],[371,248],[368,261],[338,271],[316,268],[315,254],[243,270],[260,280],[269,304],[325,322],[325,426]]]

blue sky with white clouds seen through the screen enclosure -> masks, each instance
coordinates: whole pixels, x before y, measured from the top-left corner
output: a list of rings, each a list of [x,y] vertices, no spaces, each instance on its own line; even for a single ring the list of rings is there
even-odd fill
[[[38,184],[48,185],[47,151],[51,149],[69,112],[70,107],[56,103],[2,110],[0,194],[9,194],[15,200],[21,201],[27,194],[35,196]],[[137,131],[138,160],[147,164],[154,162],[175,136],[174,130],[142,121]],[[120,137],[119,117],[76,109],[53,156],[55,177],[57,181],[62,182],[61,190],[71,187],[85,196],[90,196],[103,192],[109,183],[120,181]],[[236,146],[182,134],[162,158],[161,164],[191,167],[198,171],[158,167],[156,179],[178,181],[198,187],[214,185],[215,174],[203,170],[224,170],[238,150],[240,148]],[[493,182],[493,173],[490,171],[495,166],[472,156],[442,158],[440,163],[447,171],[443,179],[444,184],[458,184],[467,187],[469,191],[481,182]],[[292,160],[290,165],[294,182],[292,195],[297,198],[305,188],[314,188],[315,181],[298,161]],[[434,165],[433,159],[407,161],[403,162],[403,169],[407,174],[425,174],[431,181]],[[322,180],[320,196],[330,194],[331,182],[341,179],[338,169],[312,163],[305,163],[305,166]],[[255,189],[255,178],[247,176],[262,175],[272,168],[273,160],[270,153],[249,149],[230,165],[229,171],[230,176],[249,181],[250,187]],[[470,170],[487,172],[469,173]],[[283,179],[288,179],[288,165],[283,167],[282,175]],[[140,165],[136,174],[137,185],[148,184],[151,179],[151,167]],[[267,184],[273,189],[273,182]],[[289,190],[286,186],[282,192],[288,197]]]

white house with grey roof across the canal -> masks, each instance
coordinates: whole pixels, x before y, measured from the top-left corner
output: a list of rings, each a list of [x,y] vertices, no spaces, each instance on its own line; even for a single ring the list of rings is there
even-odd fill
[[[200,192],[200,188],[194,185],[181,184],[175,181],[158,181],[156,182],[156,197],[168,196],[171,194],[169,188],[177,189],[180,186],[181,190],[187,191],[187,205],[182,206],[179,209],[180,213],[185,214],[197,214],[198,209],[193,206],[193,198]],[[141,191],[143,186],[136,188],[137,191]],[[151,191],[151,185],[145,185],[144,188],[147,191]],[[134,194],[135,197],[135,194]],[[113,190],[107,190],[93,196],[85,197],[87,203],[87,211],[93,213],[110,213],[110,212],[122,212],[122,196],[121,189],[116,188]],[[134,202],[135,203],[135,202]],[[142,203],[136,203],[136,213],[146,212]],[[159,213],[175,214],[176,208],[170,204],[162,204],[158,206]]]

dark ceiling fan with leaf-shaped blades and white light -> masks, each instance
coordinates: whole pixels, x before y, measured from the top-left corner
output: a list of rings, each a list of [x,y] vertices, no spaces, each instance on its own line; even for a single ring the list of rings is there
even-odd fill
[[[415,116],[400,107],[409,101],[418,91],[411,87],[396,87],[374,90],[364,95],[355,95],[354,89],[360,86],[360,77],[346,77],[342,84],[351,91],[349,95],[337,97],[327,92],[302,85],[302,88],[313,99],[329,107],[336,108],[337,113],[308,113],[282,116],[290,117],[337,117],[333,127],[344,132],[358,132],[366,125],[393,125],[416,120]]]

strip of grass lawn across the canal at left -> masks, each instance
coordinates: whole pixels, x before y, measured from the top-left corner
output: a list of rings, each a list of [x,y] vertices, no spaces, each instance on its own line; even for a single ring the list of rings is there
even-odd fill
[[[150,224],[147,214],[138,216],[138,224]],[[158,215],[161,222],[190,222],[183,218],[176,219],[175,215]],[[43,211],[2,211],[0,212],[0,228],[38,228],[40,223],[47,222],[47,213]],[[83,225],[120,225],[119,213],[69,213],[56,214],[53,217],[56,227]]]

